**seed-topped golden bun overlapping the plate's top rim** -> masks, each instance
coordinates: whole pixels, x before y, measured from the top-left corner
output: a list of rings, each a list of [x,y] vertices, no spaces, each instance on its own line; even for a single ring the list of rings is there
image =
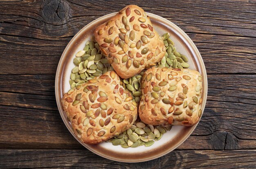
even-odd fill
[[[162,37],[153,29],[144,10],[137,5],[128,5],[119,11],[98,26],[94,35],[101,51],[123,79],[138,74],[147,65],[152,66],[166,52]]]

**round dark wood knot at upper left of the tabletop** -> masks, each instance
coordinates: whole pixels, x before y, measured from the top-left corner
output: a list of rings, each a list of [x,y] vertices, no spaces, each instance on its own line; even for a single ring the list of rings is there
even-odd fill
[[[48,24],[63,23],[69,18],[69,5],[62,0],[46,0],[43,2],[42,17]]]

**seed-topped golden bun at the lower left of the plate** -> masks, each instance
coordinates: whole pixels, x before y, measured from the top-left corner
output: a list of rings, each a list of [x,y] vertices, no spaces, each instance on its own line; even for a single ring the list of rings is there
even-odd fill
[[[120,85],[120,77],[112,71],[71,89],[61,102],[76,136],[84,143],[97,144],[134,123],[137,107],[131,99],[130,92]]]

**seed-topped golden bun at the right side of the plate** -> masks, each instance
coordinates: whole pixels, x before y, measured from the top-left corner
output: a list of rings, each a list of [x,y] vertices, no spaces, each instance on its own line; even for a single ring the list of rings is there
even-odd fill
[[[196,70],[150,68],[141,91],[139,117],[144,123],[192,126],[202,115],[202,76]]]

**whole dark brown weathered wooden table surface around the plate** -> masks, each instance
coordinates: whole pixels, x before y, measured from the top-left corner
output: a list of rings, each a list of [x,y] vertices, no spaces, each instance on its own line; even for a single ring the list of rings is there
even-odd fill
[[[184,30],[208,75],[200,123],[171,153],[141,163],[115,162],[80,145],[54,95],[58,61],[72,37],[124,1],[0,2],[0,168],[255,168],[256,2],[136,1]]]

